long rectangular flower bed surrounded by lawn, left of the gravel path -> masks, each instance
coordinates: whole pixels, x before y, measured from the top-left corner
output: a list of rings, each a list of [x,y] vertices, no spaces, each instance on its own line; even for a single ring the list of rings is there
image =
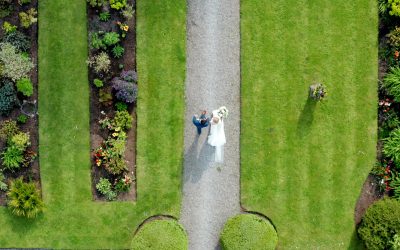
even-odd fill
[[[93,198],[134,200],[134,1],[88,0],[87,6]]]

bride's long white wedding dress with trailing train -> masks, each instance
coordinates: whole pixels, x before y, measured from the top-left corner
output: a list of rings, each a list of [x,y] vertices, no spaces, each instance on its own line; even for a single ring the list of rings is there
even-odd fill
[[[213,117],[218,116],[218,110],[212,112]],[[211,120],[210,135],[208,136],[208,144],[215,147],[215,161],[224,161],[223,146],[226,143],[225,131],[224,131],[224,120],[219,119],[218,123],[213,123]]]

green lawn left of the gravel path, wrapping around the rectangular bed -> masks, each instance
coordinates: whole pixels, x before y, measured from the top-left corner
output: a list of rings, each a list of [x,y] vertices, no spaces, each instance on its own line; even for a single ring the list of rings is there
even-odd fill
[[[186,2],[137,1],[138,201],[93,202],[85,0],[39,3],[40,166],[46,211],[0,208],[0,247],[128,248],[154,214],[179,215]],[[178,150],[177,150],[178,149]]]

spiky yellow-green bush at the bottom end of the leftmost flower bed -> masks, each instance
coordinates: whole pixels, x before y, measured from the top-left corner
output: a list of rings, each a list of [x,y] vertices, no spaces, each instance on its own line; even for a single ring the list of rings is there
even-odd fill
[[[11,182],[7,193],[8,207],[14,215],[35,218],[44,209],[39,190],[34,183],[24,183],[22,178]]]

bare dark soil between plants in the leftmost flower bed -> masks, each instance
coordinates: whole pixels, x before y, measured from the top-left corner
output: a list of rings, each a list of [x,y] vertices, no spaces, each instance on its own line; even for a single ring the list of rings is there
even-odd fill
[[[18,26],[18,31],[24,33],[31,39],[31,49],[30,49],[30,58],[34,63],[35,67],[31,70],[29,77],[33,84],[33,94],[30,97],[23,97],[21,93],[18,93],[19,101],[27,100],[29,102],[38,101],[38,25],[37,23],[32,24],[28,29],[22,28],[19,25],[18,13],[21,11],[27,11],[30,8],[35,8],[37,10],[38,0],[32,0],[30,4],[25,4],[20,6],[17,4],[17,1],[14,1],[14,8],[11,14],[5,18],[0,19],[0,25],[3,25],[4,21],[11,23],[12,25]],[[3,29],[0,29],[0,38],[4,36]],[[13,111],[8,116],[0,116],[0,123],[5,120],[17,120],[17,117],[21,115],[21,111],[19,107],[15,107]],[[25,124],[18,124],[19,129],[22,132],[28,132],[30,135],[31,145],[27,148],[27,151],[32,151],[38,154],[39,152],[39,132],[38,132],[38,116],[29,117]],[[0,152],[3,152],[6,148],[6,142],[0,140]],[[4,171],[4,176],[6,178],[6,183],[13,179],[23,177],[24,181],[34,182],[36,186],[40,189],[40,168],[39,168],[39,156],[37,155],[36,159],[31,163],[31,165],[27,168],[21,167],[14,173],[10,171]],[[0,205],[6,205],[6,192],[0,191]]]

